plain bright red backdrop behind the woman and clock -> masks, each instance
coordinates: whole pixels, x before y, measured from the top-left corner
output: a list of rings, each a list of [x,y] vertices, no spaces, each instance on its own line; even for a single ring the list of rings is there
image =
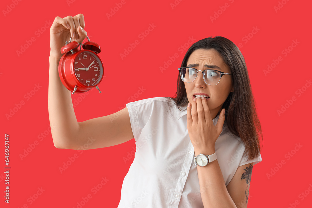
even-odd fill
[[[14,1],[18,4],[14,5]],[[121,185],[133,161],[131,158],[125,163],[123,157],[127,157],[135,147],[134,139],[80,154],[76,150],[55,148],[48,131],[50,25],[46,22],[52,23],[56,16],[75,16],[78,13],[85,16],[85,30],[91,41],[102,47],[99,55],[105,66],[105,78],[99,85],[102,93],[96,89],[90,91],[84,99],[79,99],[81,102],[74,108],[78,122],[119,111],[129,103],[131,96],[137,95],[139,87],[145,90],[134,100],[173,96],[177,68],[186,52],[181,53],[179,47],[187,43],[189,37],[198,41],[209,36],[224,36],[237,46],[242,44],[240,50],[246,60],[264,136],[263,161],[253,168],[248,207],[290,207],[290,204],[293,207],[310,207],[312,87],[304,86],[306,80],[312,78],[307,61],[311,55],[311,2],[184,0],[176,1],[179,4],[172,8],[174,0],[126,0],[108,19],[106,13],[120,2],[1,1],[1,196],[5,190],[5,133],[10,135],[11,167],[10,204],[4,203],[2,197],[1,207],[27,204],[33,208],[71,208],[77,207],[82,197],[88,194],[92,198],[84,208],[117,207],[119,203]],[[225,3],[228,7],[223,7]],[[283,7],[275,11],[279,4]],[[211,16],[215,12],[219,12],[219,17],[216,15],[212,21]],[[147,30],[149,24],[156,27],[144,40],[140,40],[138,35]],[[251,33],[253,27],[259,29],[254,31],[256,34]],[[244,37],[248,35],[252,37],[246,42]],[[17,53],[27,41],[34,39],[22,54]],[[135,40],[139,40],[139,45],[122,60],[120,53],[124,53],[124,48]],[[291,47],[293,40],[299,42],[294,48]],[[285,56],[283,50],[289,46],[292,51]],[[162,73],[160,67],[175,53],[179,57]],[[282,60],[265,75],[263,70],[274,63],[273,60],[277,63],[279,56]],[[36,84],[42,87],[28,98],[27,93],[31,93]],[[302,87],[305,91],[299,96],[297,90]],[[80,96],[72,95],[73,101]],[[279,115],[277,110],[281,110],[292,97],[295,101],[286,105],[288,108]],[[10,114],[10,110],[21,101],[25,102],[24,105],[7,118],[6,114]],[[42,141],[38,138],[41,133],[47,134]],[[38,145],[21,159],[24,149],[36,140]],[[296,148],[298,151],[295,150],[296,144],[302,146]],[[288,152],[291,157],[286,155]],[[75,153],[79,157],[61,173],[59,167]],[[281,160],[285,163],[278,167],[276,163]],[[271,172],[274,175],[268,177]],[[109,181],[94,194],[91,189],[101,182],[102,177]],[[30,204],[27,199],[41,187],[45,191]],[[300,194],[305,191],[309,194],[302,197],[304,195]]]

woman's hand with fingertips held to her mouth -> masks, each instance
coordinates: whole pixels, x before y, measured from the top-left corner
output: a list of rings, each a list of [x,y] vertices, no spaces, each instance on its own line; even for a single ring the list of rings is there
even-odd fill
[[[222,132],[225,109],[222,109],[217,124],[214,125],[207,100],[203,97],[194,99],[192,103],[189,103],[190,107],[187,109],[187,128],[190,140],[195,153],[213,154],[217,138]]]

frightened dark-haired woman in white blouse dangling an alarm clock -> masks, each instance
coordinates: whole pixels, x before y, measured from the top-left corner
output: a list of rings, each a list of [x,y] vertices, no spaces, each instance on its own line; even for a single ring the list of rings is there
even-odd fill
[[[175,98],[130,102],[115,114],[78,123],[58,63],[64,42],[82,42],[83,29],[82,14],[56,17],[50,29],[48,107],[55,147],[77,149],[93,137],[89,149],[95,149],[134,138],[135,157],[118,207],[247,207],[252,167],[262,161],[262,134],[235,44],[219,36],[194,43],[179,68]]]

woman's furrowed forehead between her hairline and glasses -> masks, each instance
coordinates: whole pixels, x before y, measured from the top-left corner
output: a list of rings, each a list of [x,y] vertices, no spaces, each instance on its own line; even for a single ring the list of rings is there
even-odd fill
[[[193,53],[188,58],[189,64],[198,64],[200,68],[207,68],[204,65],[216,65],[223,72],[229,72],[229,67],[224,63],[222,57],[219,52],[213,49],[205,50],[205,49],[197,49],[193,51]],[[197,68],[196,66],[194,68]],[[218,70],[218,69],[216,69]]]

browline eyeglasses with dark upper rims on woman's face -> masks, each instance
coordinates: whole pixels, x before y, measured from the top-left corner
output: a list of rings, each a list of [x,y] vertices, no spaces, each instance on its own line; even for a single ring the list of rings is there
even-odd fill
[[[193,82],[197,77],[197,72],[201,71],[204,81],[207,85],[217,85],[219,84],[221,77],[223,75],[232,75],[228,73],[224,73],[218,70],[197,70],[192,67],[181,67],[178,68],[181,74],[181,79],[183,82]]]

